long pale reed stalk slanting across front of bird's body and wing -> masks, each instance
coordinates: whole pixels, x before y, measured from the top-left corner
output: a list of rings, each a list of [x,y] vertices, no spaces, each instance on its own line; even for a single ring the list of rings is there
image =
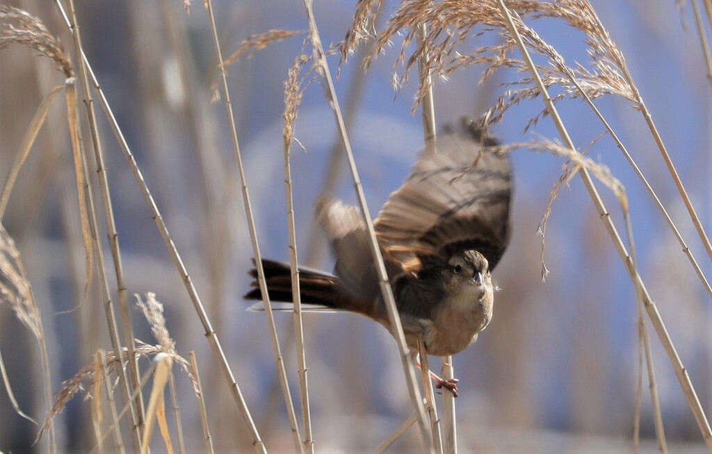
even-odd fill
[[[361,210],[363,212],[364,220],[366,223],[366,228],[370,236],[371,252],[373,254],[375,265],[377,267],[377,273],[379,276],[379,287],[381,288],[386,310],[388,313],[388,320],[391,326],[391,332],[393,334],[393,337],[396,339],[396,344],[398,347],[398,352],[400,354],[403,371],[406,376],[406,383],[408,386],[410,401],[414,407],[418,418],[418,428],[419,433],[421,435],[421,442],[424,450],[431,452],[433,448],[430,440],[430,431],[428,430],[428,423],[425,419],[426,412],[423,406],[422,394],[420,393],[420,389],[417,384],[417,379],[415,378],[415,374],[413,371],[412,359],[409,354],[407,344],[405,342],[403,327],[401,325],[400,317],[398,315],[398,309],[396,307],[395,300],[393,297],[393,290],[391,288],[388,279],[388,274],[386,273],[386,268],[383,263],[383,257],[378,244],[378,240],[376,238],[376,233],[373,228],[371,214],[366,204],[366,196],[363,191],[361,179],[359,177],[358,170],[356,167],[356,161],[351,149],[351,142],[349,141],[348,134],[346,132],[346,127],[344,126],[344,120],[342,117],[341,108],[339,107],[339,101],[336,96],[334,83],[331,78],[329,64],[326,60],[324,48],[319,38],[319,32],[316,26],[316,20],[314,19],[314,12],[312,9],[312,0],[304,0],[304,6],[307,11],[307,16],[309,18],[310,39],[313,44],[314,62],[320,68],[320,73],[325,81],[324,92],[330,102],[330,105],[332,106],[332,110],[335,115],[336,125],[339,130],[342,142],[344,144],[344,149],[354,180],[354,186],[359,205],[361,206]]]

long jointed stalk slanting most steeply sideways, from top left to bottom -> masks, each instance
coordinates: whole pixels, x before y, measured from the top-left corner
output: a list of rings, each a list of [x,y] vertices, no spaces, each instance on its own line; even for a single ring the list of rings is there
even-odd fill
[[[61,14],[66,22],[66,25],[69,27],[70,21],[65,13],[63,7],[59,3],[58,3],[58,8],[61,11]],[[234,398],[235,403],[238,406],[241,416],[243,417],[243,421],[245,423],[246,429],[252,438],[252,443],[258,452],[266,452],[266,450],[264,448],[264,444],[262,443],[262,441],[259,437],[259,433],[257,432],[257,428],[252,421],[252,416],[249,412],[249,409],[247,408],[247,403],[245,402],[245,399],[242,396],[240,387],[237,384],[237,382],[235,381],[234,375],[232,374],[232,370],[230,369],[230,365],[227,362],[227,359],[225,357],[225,354],[223,352],[223,349],[221,347],[221,344],[217,337],[217,334],[214,332],[214,330],[210,324],[210,320],[208,319],[208,317],[206,315],[206,312],[204,310],[204,307],[202,305],[202,302],[200,300],[198,292],[197,292],[197,290],[195,290],[195,286],[193,285],[192,279],[190,278],[190,275],[188,274],[188,271],[185,268],[185,265],[183,264],[183,260],[180,256],[180,254],[178,253],[177,248],[175,247],[175,245],[173,243],[173,240],[170,236],[168,228],[166,227],[166,224],[163,221],[161,213],[158,210],[158,206],[156,205],[155,200],[153,199],[153,196],[151,195],[151,191],[148,189],[146,181],[143,178],[141,169],[138,167],[136,159],[135,159],[134,155],[132,154],[131,149],[126,142],[126,139],[121,131],[121,128],[118,125],[118,122],[116,121],[116,117],[114,116],[114,113],[111,110],[109,102],[106,99],[106,96],[105,96],[101,86],[99,85],[96,75],[93,73],[91,65],[89,64],[89,61],[87,60],[86,55],[83,52],[81,53],[81,58],[83,58],[83,60],[84,60],[84,64],[86,65],[87,73],[90,76],[90,80],[93,85],[93,89],[99,98],[99,102],[100,102],[101,107],[104,111],[104,114],[109,122],[112,132],[115,135],[117,143],[119,144],[119,147],[120,147],[121,151],[123,152],[125,159],[127,160],[129,168],[131,169],[134,179],[136,180],[136,182],[139,186],[139,189],[141,190],[141,194],[144,197],[146,204],[148,205],[148,207],[151,210],[152,219],[155,222],[156,227],[158,228],[158,231],[161,234],[161,237],[163,238],[166,248],[167,248],[169,254],[171,255],[174,265],[176,266],[178,273],[181,277],[181,280],[186,288],[188,296],[189,296],[191,302],[193,303],[193,307],[194,307],[194,309],[199,317],[199,320],[203,326],[203,329],[205,332],[205,337],[206,337],[206,339],[208,339],[208,342],[211,346],[213,354],[215,355],[216,360],[220,364],[221,369],[224,374],[224,377],[230,386],[231,394]]]

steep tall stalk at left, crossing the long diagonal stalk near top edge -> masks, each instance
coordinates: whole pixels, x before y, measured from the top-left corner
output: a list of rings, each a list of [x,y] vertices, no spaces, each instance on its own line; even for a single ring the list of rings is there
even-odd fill
[[[83,52],[83,46],[80,35],[80,26],[77,21],[77,15],[74,8],[74,0],[69,0],[69,10],[71,15],[71,23],[73,25],[73,38],[74,46],[76,49],[76,54],[80,55]],[[96,122],[96,111],[94,107],[94,100],[91,94],[91,88],[89,84],[89,78],[85,68],[84,60],[82,58],[78,59],[79,68],[79,78],[82,83],[84,92],[84,107],[86,110],[86,115],[89,124],[89,130],[91,133],[92,146],[94,150],[94,159],[96,162],[96,172],[99,180],[99,187],[101,191],[102,202],[104,206],[104,219],[106,223],[109,243],[111,247],[111,256],[114,264],[114,271],[116,275],[116,283],[119,297],[119,307],[121,308],[121,320],[122,327],[124,331],[124,344],[128,349],[129,356],[129,373],[131,377],[131,387],[135,388],[139,381],[139,372],[136,364],[136,354],[135,354],[135,344],[133,327],[131,324],[131,315],[129,312],[129,303],[127,298],[127,287],[124,280],[124,271],[121,260],[121,250],[119,248],[119,234],[116,230],[116,223],[114,221],[114,209],[111,203],[111,194],[109,191],[109,181],[106,167],[104,165],[103,156],[103,146],[101,144],[101,139],[98,134],[98,126]],[[143,394],[139,393],[136,395],[136,401],[134,403],[134,409],[136,412],[136,424],[137,431],[140,434],[143,431]]]

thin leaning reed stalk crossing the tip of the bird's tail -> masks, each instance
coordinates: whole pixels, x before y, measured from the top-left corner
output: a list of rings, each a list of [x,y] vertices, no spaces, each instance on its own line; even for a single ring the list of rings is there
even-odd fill
[[[212,31],[212,35],[213,35],[213,42],[215,45],[216,57],[219,62],[222,62],[223,61],[222,51],[220,48],[220,41],[218,39],[217,28],[215,26],[215,16],[213,14],[212,1],[206,0],[205,6],[206,6],[206,9],[208,10],[210,26],[211,26],[211,31]],[[282,388],[282,394],[284,396],[285,404],[287,406],[287,413],[288,413],[289,423],[291,426],[292,438],[293,438],[293,441],[295,444],[295,450],[298,453],[303,453],[303,445],[302,445],[301,436],[299,435],[297,418],[296,418],[295,412],[294,412],[294,404],[292,401],[292,396],[289,391],[289,384],[287,381],[287,373],[284,369],[284,360],[282,358],[282,352],[279,347],[279,339],[277,337],[276,324],[274,322],[272,306],[271,306],[271,302],[269,300],[269,295],[267,292],[267,285],[266,285],[265,279],[264,279],[264,270],[262,269],[262,256],[260,254],[259,244],[257,241],[257,230],[255,227],[255,222],[254,222],[254,218],[253,218],[252,205],[250,203],[250,196],[249,196],[248,189],[247,189],[247,180],[246,180],[246,176],[245,176],[244,167],[242,164],[242,155],[240,153],[240,145],[239,145],[239,142],[237,139],[237,129],[235,127],[235,118],[234,118],[234,113],[232,111],[232,101],[230,100],[230,90],[228,88],[228,83],[227,83],[227,73],[226,73],[224,65],[219,65],[219,68],[220,68],[220,75],[221,75],[221,81],[222,81],[222,86],[223,86],[223,95],[224,95],[224,99],[225,99],[225,109],[226,109],[226,113],[227,113],[227,117],[228,117],[228,124],[230,127],[230,137],[232,139],[232,147],[235,152],[235,159],[236,159],[238,171],[240,174],[240,181],[242,182],[242,194],[243,194],[244,206],[245,206],[245,216],[247,218],[247,224],[248,224],[248,228],[250,231],[250,238],[252,241],[252,250],[253,250],[253,255],[255,258],[255,268],[257,269],[260,291],[262,292],[263,300],[267,307],[265,314],[267,316],[268,325],[269,325],[270,332],[271,332],[272,349],[273,349],[274,357],[275,357],[276,364],[277,364],[277,371],[279,374],[280,384],[281,384],[281,388]]]

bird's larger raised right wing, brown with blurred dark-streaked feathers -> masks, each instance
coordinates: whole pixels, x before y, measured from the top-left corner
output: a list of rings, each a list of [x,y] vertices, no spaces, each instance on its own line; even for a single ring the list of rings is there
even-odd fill
[[[476,249],[492,270],[506,249],[511,164],[471,121],[439,134],[375,221],[387,255],[407,269],[426,255]]]

